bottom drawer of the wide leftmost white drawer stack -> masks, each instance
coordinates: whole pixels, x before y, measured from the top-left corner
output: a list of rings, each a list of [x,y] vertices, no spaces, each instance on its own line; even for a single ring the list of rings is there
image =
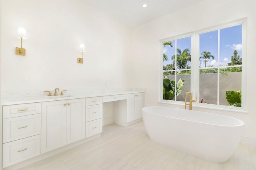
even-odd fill
[[[41,153],[41,135],[3,144],[3,168]]]

